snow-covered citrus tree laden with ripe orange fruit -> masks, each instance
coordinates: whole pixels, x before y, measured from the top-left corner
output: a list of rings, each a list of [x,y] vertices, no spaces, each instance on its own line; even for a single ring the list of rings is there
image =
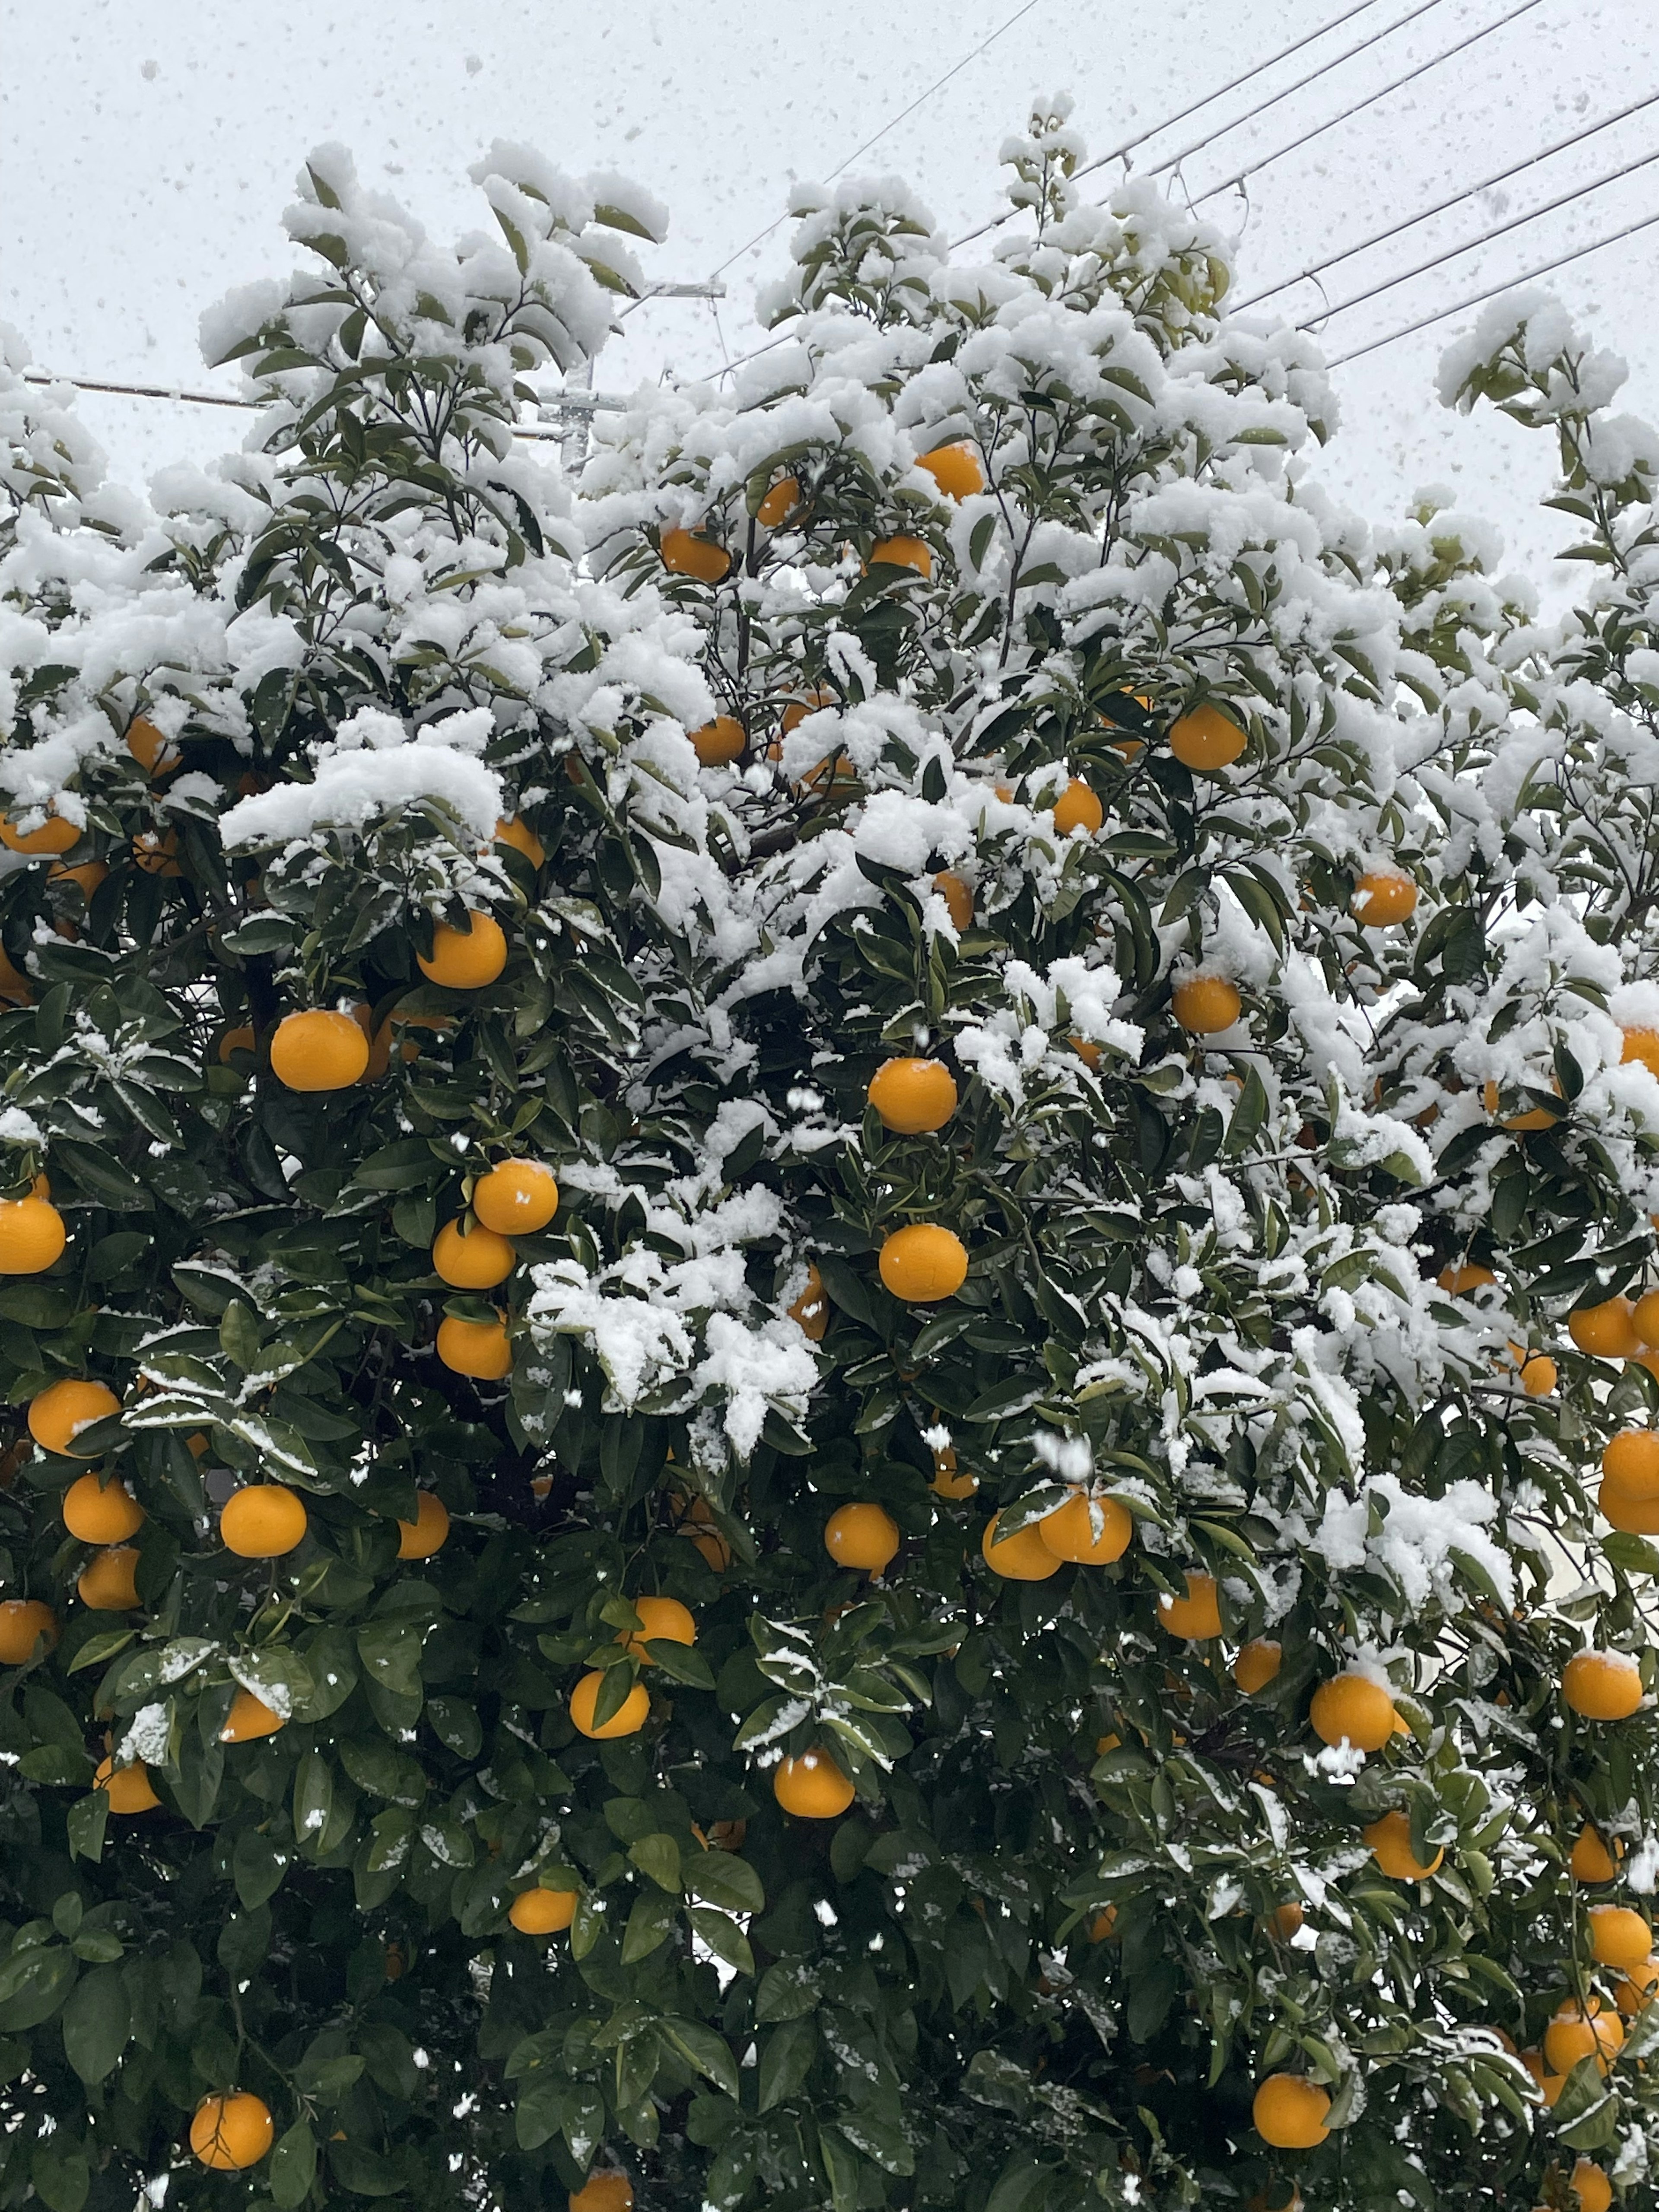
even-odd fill
[[[518,148],[0,383],[4,2203],[1652,2201],[1652,440],[1542,626],[1077,153],[575,493]]]

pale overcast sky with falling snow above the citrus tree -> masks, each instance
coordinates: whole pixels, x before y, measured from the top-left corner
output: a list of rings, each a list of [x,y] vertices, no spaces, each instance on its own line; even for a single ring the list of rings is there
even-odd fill
[[[285,0],[272,13],[246,0],[0,0],[0,319],[60,374],[234,389],[226,372],[201,367],[197,316],[232,283],[290,268],[279,217],[301,157],[323,139],[347,144],[369,184],[440,234],[484,219],[467,166],[493,137],[540,146],[575,173],[619,168],[672,208],[668,246],[646,250],[650,272],[701,279],[781,212],[792,181],[834,170],[1018,4]],[[905,175],[956,234],[995,212],[998,144],[1024,122],[1033,91],[1071,91],[1073,122],[1106,153],[1352,4],[1035,0],[856,168]],[[1135,159],[1152,166],[1181,153],[1418,4],[1371,0]],[[1241,294],[1659,91],[1659,0],[1531,0],[1504,22],[1517,7],[1436,0],[1183,164],[1199,197],[1471,31],[1498,27],[1272,161],[1250,179],[1248,201],[1239,192],[1203,201],[1208,217],[1241,234]],[[1409,270],[1655,148],[1659,106],[1343,263],[1327,279],[1329,296]],[[1327,349],[1340,354],[1453,305],[1655,208],[1659,164],[1338,316]],[[726,272],[732,296],[719,330],[706,303],[655,301],[633,314],[626,343],[599,361],[599,385],[626,387],[664,367],[706,374],[723,347],[743,352],[757,341],[754,272],[776,268],[785,239],[779,226]],[[1659,228],[1551,281],[1630,363],[1624,405],[1659,411]],[[1294,314],[1316,303],[1312,285],[1283,294]],[[1533,507],[1548,489],[1548,442],[1493,416],[1447,416],[1431,396],[1438,352],[1467,321],[1455,316],[1338,372],[1345,422],[1323,473],[1371,515],[1396,513],[1420,484],[1451,484],[1544,580],[1551,549],[1566,542],[1562,518]],[[88,396],[84,414],[128,478],[186,453],[206,458],[241,436],[234,416],[173,403]]]

